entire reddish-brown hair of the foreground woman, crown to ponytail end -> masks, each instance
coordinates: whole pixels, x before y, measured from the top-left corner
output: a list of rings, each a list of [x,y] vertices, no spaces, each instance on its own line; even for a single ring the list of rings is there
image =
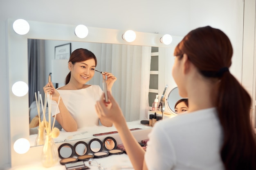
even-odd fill
[[[225,33],[210,26],[189,32],[175,48],[205,77],[219,78],[218,118],[223,129],[220,156],[226,170],[256,170],[256,140],[250,121],[252,99],[229,72],[233,49]]]

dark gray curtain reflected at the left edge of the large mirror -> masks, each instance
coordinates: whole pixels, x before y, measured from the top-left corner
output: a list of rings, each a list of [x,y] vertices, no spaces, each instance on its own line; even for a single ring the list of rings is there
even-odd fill
[[[42,94],[45,86],[45,40],[28,39],[29,106],[36,100],[35,92]]]

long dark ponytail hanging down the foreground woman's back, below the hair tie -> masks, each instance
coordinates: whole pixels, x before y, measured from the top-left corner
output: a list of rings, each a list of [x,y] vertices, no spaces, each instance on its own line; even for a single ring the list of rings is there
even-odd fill
[[[224,134],[220,155],[225,169],[256,170],[251,97],[229,72],[222,75],[218,92],[218,117]]]

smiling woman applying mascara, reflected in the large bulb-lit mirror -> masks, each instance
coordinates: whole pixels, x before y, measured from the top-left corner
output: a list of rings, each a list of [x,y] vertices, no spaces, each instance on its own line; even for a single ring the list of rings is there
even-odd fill
[[[83,48],[74,50],[68,62],[69,74],[65,79],[65,85],[55,89],[51,83],[45,85],[44,92],[52,95],[52,114],[65,131],[76,131],[83,126],[99,124],[99,117],[94,105],[99,100],[102,90],[99,85],[86,84],[94,76],[97,65],[95,55]],[[117,80],[111,73],[104,72],[108,90],[111,91],[113,83]],[[107,76],[107,79],[106,79]],[[57,108],[58,98],[60,102]],[[112,126],[105,118],[100,118],[104,126]]]

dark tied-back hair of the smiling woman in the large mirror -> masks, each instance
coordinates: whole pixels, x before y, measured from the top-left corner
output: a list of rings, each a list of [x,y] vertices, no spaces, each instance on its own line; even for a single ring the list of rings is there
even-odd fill
[[[72,62],[72,64],[74,64],[76,62],[81,62],[89,59],[94,59],[95,66],[97,66],[97,59],[91,51],[84,48],[78,48],[71,53],[70,60],[68,62]],[[71,77],[71,72],[67,74],[65,78],[65,84],[70,82],[70,77]]]

